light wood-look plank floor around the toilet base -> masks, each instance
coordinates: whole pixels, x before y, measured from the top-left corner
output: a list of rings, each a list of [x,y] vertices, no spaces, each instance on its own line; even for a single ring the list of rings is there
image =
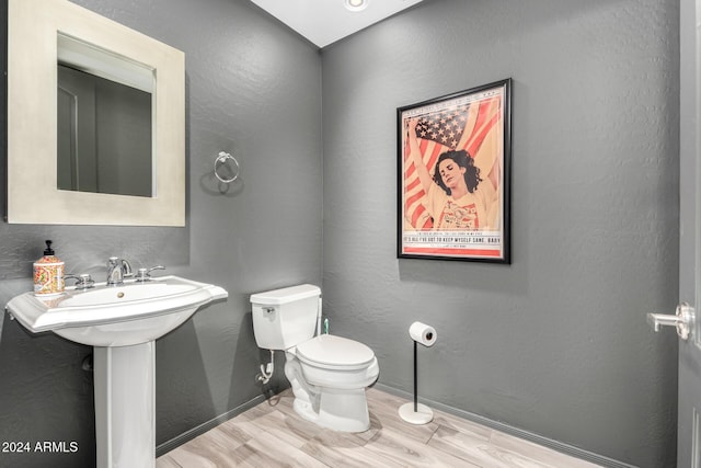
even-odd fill
[[[302,420],[286,390],[162,455],[157,468],[597,466],[440,411],[430,423],[412,425],[398,414],[406,400],[374,388],[367,396],[364,433]]]

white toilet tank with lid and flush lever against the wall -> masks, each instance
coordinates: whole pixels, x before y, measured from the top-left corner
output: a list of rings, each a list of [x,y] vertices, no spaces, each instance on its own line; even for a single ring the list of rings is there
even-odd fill
[[[251,296],[253,334],[258,347],[287,350],[314,335],[321,289],[311,284]]]

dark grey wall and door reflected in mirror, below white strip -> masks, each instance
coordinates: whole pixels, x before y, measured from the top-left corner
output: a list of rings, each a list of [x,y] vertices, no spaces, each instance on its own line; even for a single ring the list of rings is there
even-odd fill
[[[59,190],[152,196],[151,94],[58,65]]]

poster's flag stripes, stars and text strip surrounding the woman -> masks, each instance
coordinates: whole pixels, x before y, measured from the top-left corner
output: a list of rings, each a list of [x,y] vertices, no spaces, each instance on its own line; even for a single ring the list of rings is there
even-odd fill
[[[415,121],[421,161],[434,175],[438,157],[448,150],[466,150],[480,169],[481,184],[491,184],[502,204],[504,197],[505,87],[435,102],[401,112],[402,125],[402,252],[466,258],[503,255],[503,213],[487,230],[463,232],[436,228],[411,153],[409,123]],[[413,136],[411,136],[413,137]],[[486,189],[486,187],[483,187]],[[503,206],[503,205],[502,205]]]

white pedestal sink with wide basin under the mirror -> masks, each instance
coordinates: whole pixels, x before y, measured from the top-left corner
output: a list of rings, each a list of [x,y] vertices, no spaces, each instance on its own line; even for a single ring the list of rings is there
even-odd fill
[[[94,346],[97,467],[156,466],[156,339],[228,293],[161,276],[53,297],[16,296],[7,309],[32,332]]]

